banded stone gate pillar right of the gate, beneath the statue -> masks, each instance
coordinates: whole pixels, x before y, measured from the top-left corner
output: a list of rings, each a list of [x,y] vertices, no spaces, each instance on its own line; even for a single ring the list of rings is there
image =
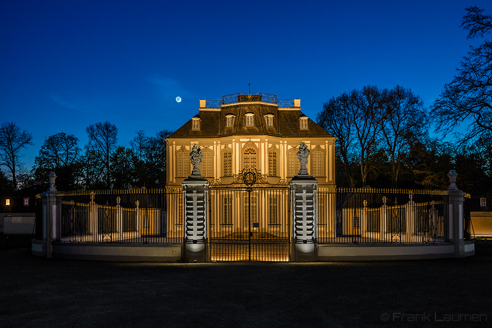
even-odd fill
[[[291,193],[291,261],[316,261],[316,188],[318,181],[297,175],[289,182]]]

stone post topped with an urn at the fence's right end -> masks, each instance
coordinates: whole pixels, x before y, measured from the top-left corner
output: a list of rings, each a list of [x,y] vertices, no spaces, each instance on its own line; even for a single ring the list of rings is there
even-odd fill
[[[464,257],[463,238],[463,199],[465,193],[456,186],[458,173],[451,170],[448,173],[451,184],[448,187],[449,194],[449,236],[455,244],[455,257]]]

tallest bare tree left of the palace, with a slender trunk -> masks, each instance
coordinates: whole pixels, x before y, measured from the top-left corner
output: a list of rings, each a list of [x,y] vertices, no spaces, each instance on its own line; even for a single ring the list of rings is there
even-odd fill
[[[97,122],[86,128],[89,137],[88,149],[93,149],[98,155],[104,168],[106,187],[111,186],[111,154],[118,146],[118,128],[108,121]]]

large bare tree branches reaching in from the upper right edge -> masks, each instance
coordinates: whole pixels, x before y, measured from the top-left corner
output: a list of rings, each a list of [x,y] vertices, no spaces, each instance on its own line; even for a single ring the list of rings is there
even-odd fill
[[[484,9],[466,8],[461,26],[469,30],[468,37],[483,37],[492,29],[492,15],[483,15]],[[453,81],[434,101],[431,117],[436,131],[444,135],[460,124],[467,124],[461,135],[462,142],[492,131],[492,42],[470,46],[468,56],[463,57]]]

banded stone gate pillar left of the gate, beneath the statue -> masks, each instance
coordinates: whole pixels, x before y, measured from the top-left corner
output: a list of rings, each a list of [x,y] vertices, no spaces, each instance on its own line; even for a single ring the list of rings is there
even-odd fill
[[[191,175],[183,185],[183,258],[189,262],[208,262],[209,181]]]

